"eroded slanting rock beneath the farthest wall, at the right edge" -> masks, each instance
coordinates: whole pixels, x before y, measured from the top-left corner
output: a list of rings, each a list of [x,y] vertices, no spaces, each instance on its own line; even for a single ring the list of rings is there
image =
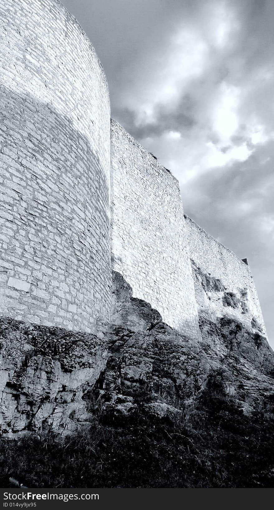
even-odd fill
[[[245,414],[273,413],[274,352],[266,338],[229,318],[213,323],[202,317],[200,329],[203,349],[213,363],[210,378],[218,378],[223,394],[232,396]]]

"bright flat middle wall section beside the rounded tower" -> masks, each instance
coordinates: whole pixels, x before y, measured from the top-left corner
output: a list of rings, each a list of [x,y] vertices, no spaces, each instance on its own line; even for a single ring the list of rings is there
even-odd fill
[[[178,182],[115,121],[111,143],[113,269],[164,322],[198,336]]]

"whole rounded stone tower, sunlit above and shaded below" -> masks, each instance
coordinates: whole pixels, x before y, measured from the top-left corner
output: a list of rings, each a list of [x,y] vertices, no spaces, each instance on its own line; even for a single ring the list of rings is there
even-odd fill
[[[57,0],[0,0],[0,315],[95,331],[110,308],[104,71]]]

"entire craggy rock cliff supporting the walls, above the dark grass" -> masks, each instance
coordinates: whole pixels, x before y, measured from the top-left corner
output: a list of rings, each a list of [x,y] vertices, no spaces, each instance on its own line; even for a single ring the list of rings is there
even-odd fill
[[[195,341],[133,298],[119,273],[102,338],[5,318],[0,327],[4,438],[54,432],[64,440],[95,423],[119,424],[123,435],[123,424],[140,416],[172,427],[193,417],[201,424],[212,395],[222,402],[214,411],[220,421],[224,409],[226,420],[242,423],[273,418],[274,353],[259,331],[203,315]]]

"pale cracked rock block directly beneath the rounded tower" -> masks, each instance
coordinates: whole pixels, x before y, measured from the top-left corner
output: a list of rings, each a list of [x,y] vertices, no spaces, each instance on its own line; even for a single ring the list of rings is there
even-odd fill
[[[0,345],[3,433],[74,431],[92,419],[82,396],[105,368],[104,342],[94,335],[1,319]]]

